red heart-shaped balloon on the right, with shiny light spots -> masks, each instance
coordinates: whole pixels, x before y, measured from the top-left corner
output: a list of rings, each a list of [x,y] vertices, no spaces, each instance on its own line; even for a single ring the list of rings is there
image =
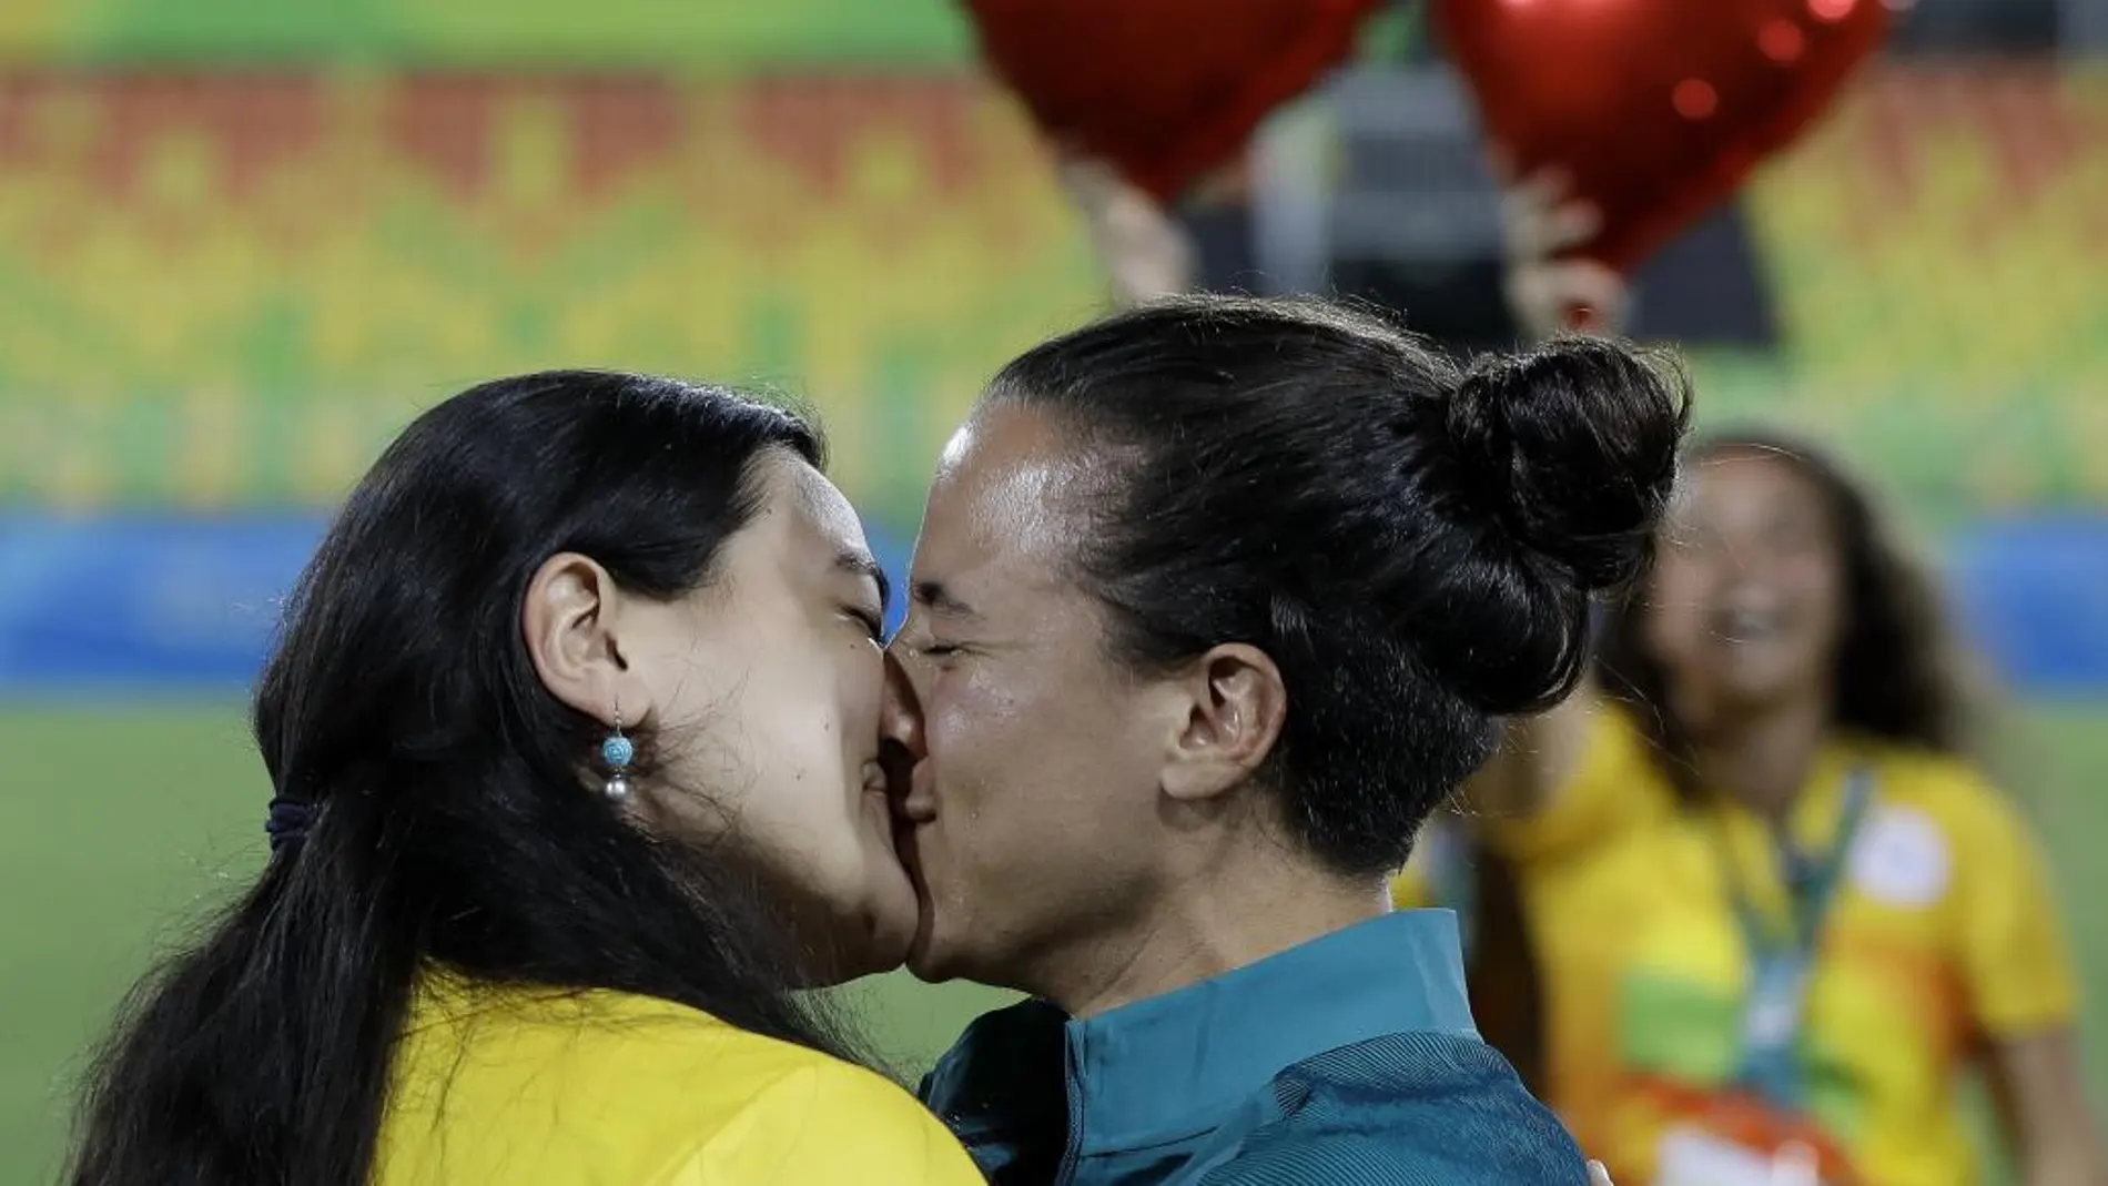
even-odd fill
[[[1518,175],[1602,213],[1581,253],[1629,272],[1830,105],[1882,0],[1436,0],[1436,27]]]

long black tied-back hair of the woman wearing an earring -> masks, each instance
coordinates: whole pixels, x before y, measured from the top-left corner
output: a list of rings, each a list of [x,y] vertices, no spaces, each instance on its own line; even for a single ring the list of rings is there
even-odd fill
[[[584,788],[603,727],[542,687],[521,636],[557,552],[641,596],[706,584],[769,449],[822,461],[803,421],[734,392],[580,371],[472,388],[396,438],[255,695],[306,838],[135,990],[84,1091],[74,1186],[365,1186],[424,967],[841,1049],[786,992],[795,952],[757,878]]]

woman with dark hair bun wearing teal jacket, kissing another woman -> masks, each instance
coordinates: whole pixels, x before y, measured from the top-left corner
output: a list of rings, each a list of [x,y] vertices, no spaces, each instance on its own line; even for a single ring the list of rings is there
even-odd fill
[[[1389,912],[1497,718],[1642,567],[1680,375],[1461,371],[1322,301],[1187,297],[1010,362],[944,451],[894,638],[909,967],[1033,996],[923,1098],[999,1184],[1583,1182]]]

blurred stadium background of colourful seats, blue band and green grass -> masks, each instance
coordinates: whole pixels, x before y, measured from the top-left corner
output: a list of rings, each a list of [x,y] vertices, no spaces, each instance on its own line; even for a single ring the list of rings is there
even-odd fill
[[[2097,1020],[2108,72],[1880,63],[1745,211],[1781,341],[1701,352],[1701,417],[1832,442],[1948,558]],[[259,866],[242,685],[413,411],[550,364],[786,388],[898,562],[980,379],[1098,305],[942,0],[0,4],[0,1182]],[[989,1001],[864,992],[904,1068]]]

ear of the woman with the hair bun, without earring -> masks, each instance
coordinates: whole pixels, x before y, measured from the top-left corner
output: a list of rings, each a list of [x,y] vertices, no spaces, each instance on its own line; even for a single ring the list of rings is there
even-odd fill
[[[1252,777],[1282,739],[1288,687],[1258,647],[1225,643],[1202,655],[1180,680],[1185,723],[1172,737],[1164,792],[1197,800]]]

